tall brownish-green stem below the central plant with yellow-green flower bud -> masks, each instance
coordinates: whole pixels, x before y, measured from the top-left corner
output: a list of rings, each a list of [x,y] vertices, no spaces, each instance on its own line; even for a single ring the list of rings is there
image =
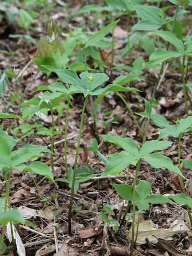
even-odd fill
[[[89,99],[89,95],[86,96],[85,101],[84,101],[84,105],[83,105],[83,109],[82,109],[81,123],[80,123],[80,128],[79,128],[79,137],[78,137],[76,156],[75,156],[74,173],[73,173],[73,181],[72,181],[72,186],[71,186],[71,195],[70,195],[70,203],[69,203],[69,215],[68,215],[69,236],[71,236],[71,211],[72,211],[72,205],[73,205],[75,175],[76,175],[76,169],[77,169],[77,158],[78,158],[78,151],[79,151],[79,147],[80,147],[81,134],[82,134],[82,128],[83,128],[83,117],[84,117],[85,107],[86,107],[86,103],[87,103],[88,99]]]

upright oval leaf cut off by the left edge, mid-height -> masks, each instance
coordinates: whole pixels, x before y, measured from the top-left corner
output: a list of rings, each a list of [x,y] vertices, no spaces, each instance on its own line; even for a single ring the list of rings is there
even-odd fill
[[[0,169],[5,166],[9,167],[11,164],[11,157],[10,157],[11,150],[6,138],[3,137],[2,135],[0,135],[0,151],[1,151]]]

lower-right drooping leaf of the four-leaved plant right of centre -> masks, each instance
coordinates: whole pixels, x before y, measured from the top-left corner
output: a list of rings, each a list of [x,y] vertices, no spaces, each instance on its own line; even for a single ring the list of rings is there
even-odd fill
[[[142,157],[146,162],[148,162],[154,168],[166,168],[170,171],[176,172],[182,178],[185,178],[179,168],[173,164],[169,157],[160,154],[151,154],[149,156]]]

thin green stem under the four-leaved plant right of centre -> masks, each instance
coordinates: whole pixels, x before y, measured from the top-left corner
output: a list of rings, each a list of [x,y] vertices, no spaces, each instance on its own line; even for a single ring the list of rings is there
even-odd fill
[[[137,163],[137,168],[136,168],[136,172],[135,172],[135,177],[134,177],[134,181],[133,181],[133,218],[132,218],[132,236],[131,236],[131,252],[130,255],[133,255],[133,248],[134,248],[134,222],[135,222],[135,202],[136,202],[136,184],[137,184],[137,177],[139,174],[139,169],[140,169],[140,165],[141,165],[141,158],[139,158],[139,161]]]

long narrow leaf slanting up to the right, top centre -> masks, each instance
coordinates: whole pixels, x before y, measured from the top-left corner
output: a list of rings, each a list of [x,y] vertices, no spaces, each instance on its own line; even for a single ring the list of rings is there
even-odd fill
[[[97,43],[98,41],[100,41],[103,37],[105,37],[119,22],[120,19],[111,22],[110,24],[108,24],[107,26],[105,26],[104,28],[102,28],[101,30],[99,30],[98,32],[96,32],[93,36],[91,36],[87,42],[85,43],[85,47],[93,45],[95,43]]]

